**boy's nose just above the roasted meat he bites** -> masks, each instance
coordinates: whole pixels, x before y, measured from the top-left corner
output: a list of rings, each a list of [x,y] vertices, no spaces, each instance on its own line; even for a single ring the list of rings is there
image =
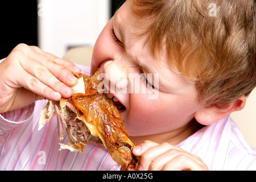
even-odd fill
[[[128,73],[118,61],[109,60],[104,63],[104,85],[108,86],[111,93],[128,93]],[[108,85],[106,85],[108,81]]]

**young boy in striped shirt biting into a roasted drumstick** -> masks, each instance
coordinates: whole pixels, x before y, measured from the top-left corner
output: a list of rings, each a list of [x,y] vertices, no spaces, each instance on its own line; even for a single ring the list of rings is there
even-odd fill
[[[129,87],[112,94],[139,170],[256,169],[229,117],[256,86],[255,21],[253,1],[127,0],[106,24],[90,72],[108,75],[107,90]],[[72,96],[79,68],[20,44],[0,71],[0,169],[119,169],[102,146],[57,151],[55,116],[37,131],[42,99]],[[147,92],[129,75],[144,75]]]

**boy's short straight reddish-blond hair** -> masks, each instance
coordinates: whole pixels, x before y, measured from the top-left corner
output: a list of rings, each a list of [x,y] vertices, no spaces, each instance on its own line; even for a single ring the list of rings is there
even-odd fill
[[[225,106],[256,86],[255,1],[133,0],[131,8],[154,55],[167,49],[201,103]]]

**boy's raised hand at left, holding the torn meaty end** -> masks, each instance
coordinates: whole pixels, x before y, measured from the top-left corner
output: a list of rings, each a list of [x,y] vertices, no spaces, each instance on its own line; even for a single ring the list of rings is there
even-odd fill
[[[0,113],[21,109],[47,98],[71,97],[81,70],[73,63],[19,44],[0,64]]]

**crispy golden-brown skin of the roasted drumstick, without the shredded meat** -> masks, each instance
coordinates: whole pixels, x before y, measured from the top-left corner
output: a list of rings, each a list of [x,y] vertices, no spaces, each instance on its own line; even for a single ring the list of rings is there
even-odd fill
[[[98,93],[101,79],[84,76],[85,94],[73,94],[72,102],[76,106],[77,116],[82,118],[91,134],[99,137],[109,150],[113,160],[123,169],[138,168],[138,158],[132,154],[135,146],[125,129],[124,122],[113,101],[105,93]]]

